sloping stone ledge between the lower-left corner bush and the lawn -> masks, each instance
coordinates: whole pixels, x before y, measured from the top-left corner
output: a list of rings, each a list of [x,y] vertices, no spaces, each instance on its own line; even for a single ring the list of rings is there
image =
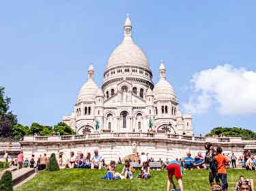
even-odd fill
[[[21,168],[12,173],[12,180],[14,181],[14,186],[24,181],[29,176],[35,173],[35,168]]]

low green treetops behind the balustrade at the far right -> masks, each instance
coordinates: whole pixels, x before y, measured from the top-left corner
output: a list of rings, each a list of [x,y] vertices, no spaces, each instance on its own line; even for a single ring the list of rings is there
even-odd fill
[[[256,132],[253,132],[251,130],[246,130],[243,128],[224,128],[224,127],[218,127],[211,130],[210,133],[206,134],[206,136],[236,136],[236,137],[242,137],[244,139],[255,139],[256,138]]]

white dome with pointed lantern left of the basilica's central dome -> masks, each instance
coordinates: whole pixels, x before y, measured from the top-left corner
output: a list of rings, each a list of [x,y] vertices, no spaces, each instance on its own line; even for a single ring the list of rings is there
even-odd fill
[[[98,93],[98,86],[94,82],[94,68],[92,65],[90,65],[88,70],[88,80],[81,87],[79,94],[77,95],[77,98],[76,98],[76,103],[79,103],[85,100],[89,102],[95,102],[97,93]]]

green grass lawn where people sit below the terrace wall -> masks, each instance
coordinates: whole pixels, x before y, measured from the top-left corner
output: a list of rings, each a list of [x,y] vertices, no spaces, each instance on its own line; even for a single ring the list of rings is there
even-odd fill
[[[121,171],[122,166],[117,167],[117,172]],[[149,180],[115,180],[103,181],[100,178],[106,173],[105,170],[87,170],[87,169],[63,169],[61,171],[48,172],[42,171],[33,179],[20,186],[18,191],[30,190],[91,190],[91,191],[152,191],[166,190],[167,171],[152,171],[152,177]],[[139,171],[136,171],[137,175]],[[184,190],[186,191],[204,191],[210,190],[208,186],[208,171],[184,171],[183,177]],[[233,190],[240,175],[246,178],[256,179],[255,171],[229,170],[228,182],[229,190]]]

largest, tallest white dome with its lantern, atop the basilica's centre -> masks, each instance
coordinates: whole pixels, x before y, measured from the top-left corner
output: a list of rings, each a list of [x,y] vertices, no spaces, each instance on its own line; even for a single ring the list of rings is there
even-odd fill
[[[126,22],[124,23],[124,40],[109,56],[106,69],[119,65],[135,65],[150,70],[150,65],[145,53],[143,53],[143,50],[141,50],[141,48],[139,48],[139,46],[132,40],[131,31],[132,25],[130,18],[127,17]]]

